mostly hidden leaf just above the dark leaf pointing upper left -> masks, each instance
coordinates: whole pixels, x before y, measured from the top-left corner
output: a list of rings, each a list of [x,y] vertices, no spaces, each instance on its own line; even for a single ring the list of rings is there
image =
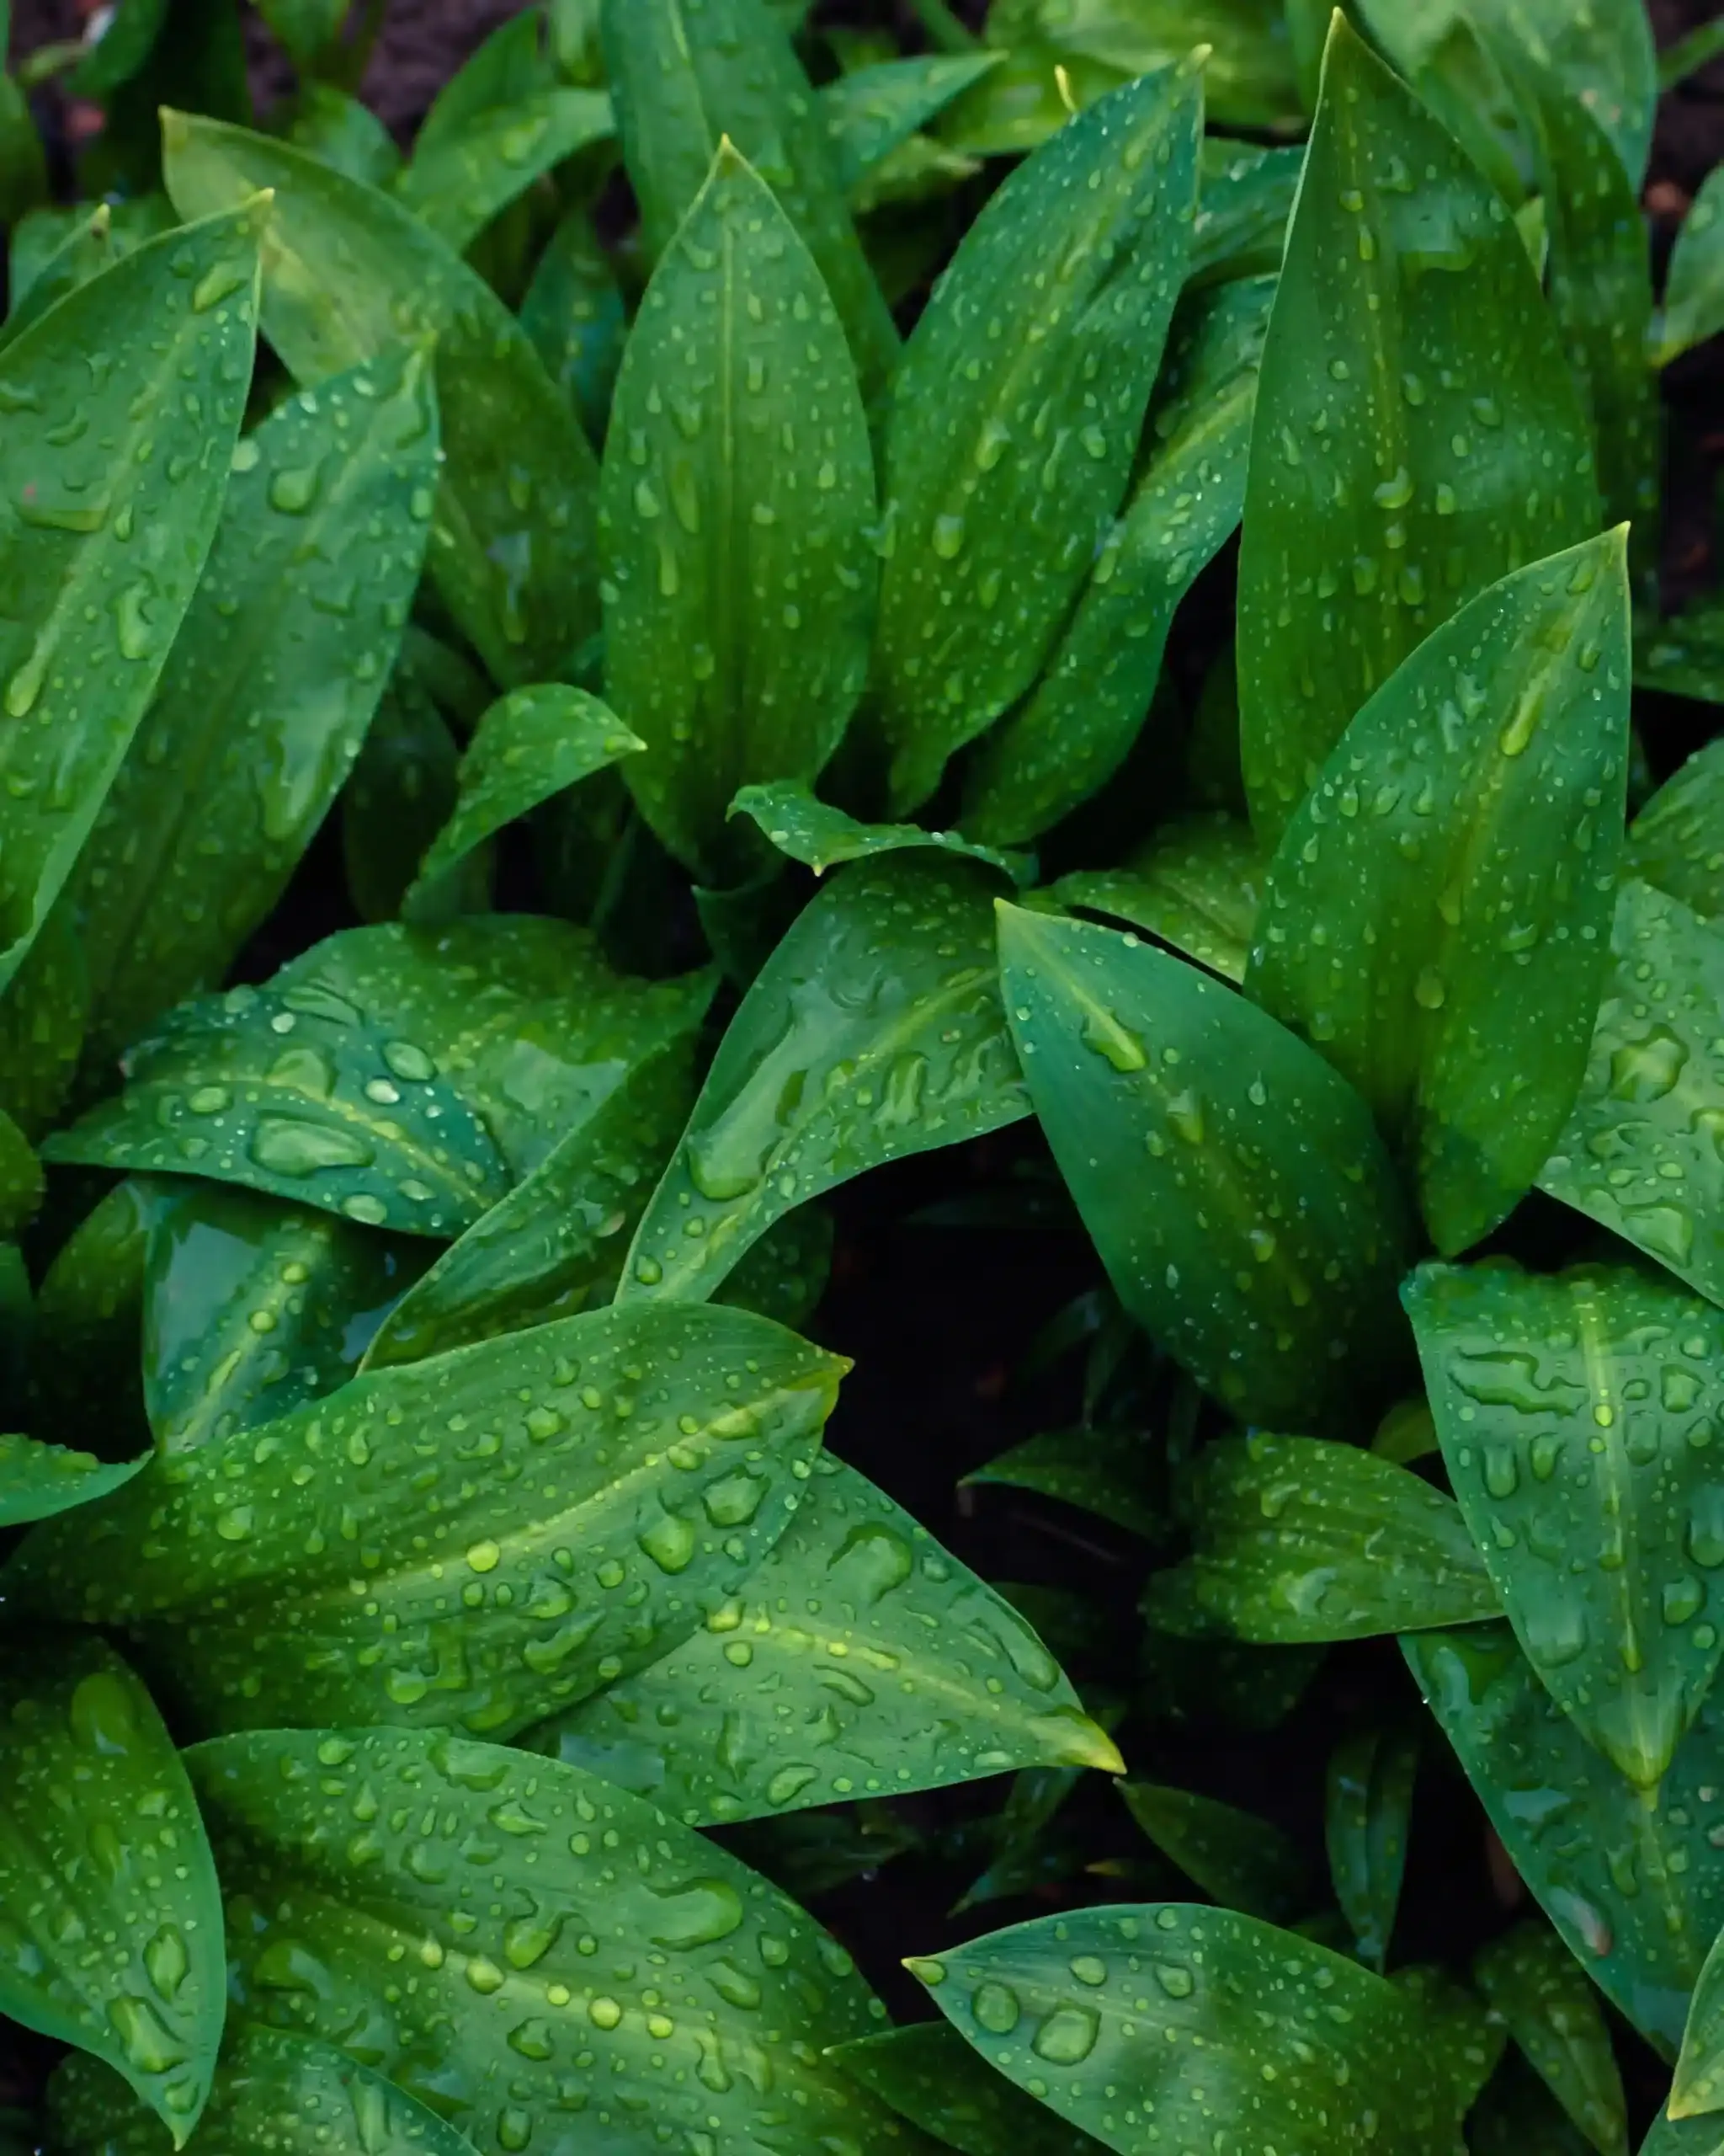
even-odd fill
[[[1062,875],[1054,897],[1129,921],[1224,981],[1243,981],[1263,869],[1250,826],[1224,813],[1192,815],[1164,824],[1123,869]]]

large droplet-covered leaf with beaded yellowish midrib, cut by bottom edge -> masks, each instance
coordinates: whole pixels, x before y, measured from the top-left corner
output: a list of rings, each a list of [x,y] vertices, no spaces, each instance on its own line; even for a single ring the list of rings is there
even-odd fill
[[[666,2134],[933,2156],[823,2057],[886,2020],[849,1955],[638,1796],[384,1729],[187,1764],[235,1889],[237,2012],[362,2050],[483,2156],[662,2156]]]

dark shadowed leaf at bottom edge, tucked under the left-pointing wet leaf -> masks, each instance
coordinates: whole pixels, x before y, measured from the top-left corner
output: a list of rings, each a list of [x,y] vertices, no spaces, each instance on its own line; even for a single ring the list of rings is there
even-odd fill
[[[899,2117],[959,2156],[1095,2156],[1090,2134],[996,2074],[948,2022],[881,2029],[828,2053]]]

